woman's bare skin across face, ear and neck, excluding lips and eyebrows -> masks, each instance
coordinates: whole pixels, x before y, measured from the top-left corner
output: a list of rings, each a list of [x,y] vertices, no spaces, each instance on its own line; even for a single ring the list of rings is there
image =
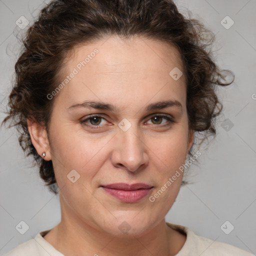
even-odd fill
[[[184,75],[178,80],[169,75],[174,67],[184,73],[182,62],[177,50],[161,41],[111,36],[70,51],[63,79],[94,48],[99,50],[95,57],[51,99],[49,134],[27,120],[32,143],[38,154],[46,153],[45,160],[52,160],[60,189],[61,221],[43,238],[68,256],[175,255],[186,236],[168,227],[164,217],[182,174],[154,202],[148,197],[184,163],[193,142]],[[179,101],[182,110],[175,105],[144,110],[168,99]],[[68,109],[84,100],[113,104],[116,111]],[[95,113],[105,119],[80,122]],[[157,114],[172,116],[174,122],[152,118]],[[123,118],[131,123],[127,131],[118,126]],[[74,183],[67,178],[72,169],[80,175]],[[100,187],[117,182],[153,188],[140,201],[126,203]],[[118,228],[123,221],[130,227],[127,233]]]

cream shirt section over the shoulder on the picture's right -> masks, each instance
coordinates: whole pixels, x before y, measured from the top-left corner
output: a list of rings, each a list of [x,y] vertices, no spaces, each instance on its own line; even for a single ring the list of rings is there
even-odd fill
[[[168,226],[186,234],[186,241],[175,256],[254,256],[254,254],[228,243],[195,234],[189,227],[166,222]]]

